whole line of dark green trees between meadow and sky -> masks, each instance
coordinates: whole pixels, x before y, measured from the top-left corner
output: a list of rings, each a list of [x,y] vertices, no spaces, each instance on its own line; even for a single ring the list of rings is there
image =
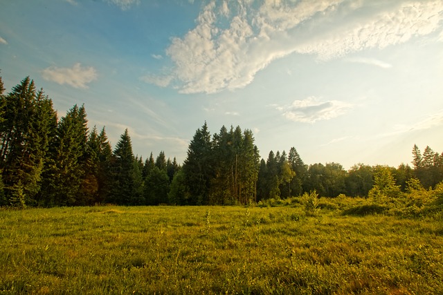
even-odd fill
[[[294,147],[261,159],[253,133],[237,126],[211,135],[206,122],[192,138],[183,165],[162,151],[134,156],[127,130],[114,150],[105,128],[87,126],[84,106],[60,119],[52,100],[26,77],[4,94],[0,77],[0,206],[92,204],[249,204],[270,198],[368,196],[374,183],[410,180],[435,187],[443,180],[443,153],[413,147],[413,167],[305,164]],[[389,184],[390,187],[394,185]]]

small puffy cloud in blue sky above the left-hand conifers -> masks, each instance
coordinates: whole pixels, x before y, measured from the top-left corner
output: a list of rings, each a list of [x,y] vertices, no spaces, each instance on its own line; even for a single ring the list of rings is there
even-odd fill
[[[92,66],[82,67],[80,63],[72,68],[51,66],[42,70],[42,77],[58,84],[68,84],[74,88],[88,88],[87,84],[97,79],[97,71]]]

